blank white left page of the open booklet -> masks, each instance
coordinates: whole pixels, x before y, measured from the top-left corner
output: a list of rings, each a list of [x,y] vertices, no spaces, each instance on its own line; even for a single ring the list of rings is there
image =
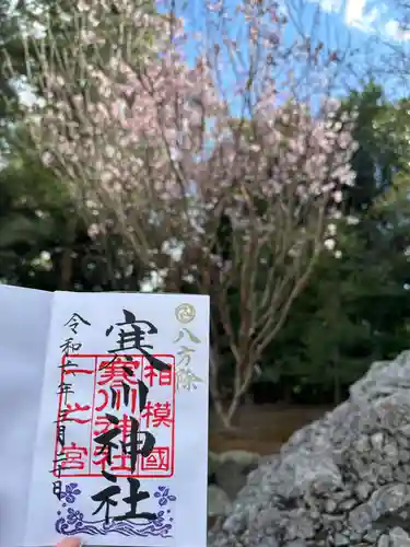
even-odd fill
[[[0,284],[0,547],[23,543],[51,300]]]

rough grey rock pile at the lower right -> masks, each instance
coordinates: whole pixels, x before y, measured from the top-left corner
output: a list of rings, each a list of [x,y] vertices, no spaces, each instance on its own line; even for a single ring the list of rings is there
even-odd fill
[[[253,472],[212,547],[410,547],[410,351]]]

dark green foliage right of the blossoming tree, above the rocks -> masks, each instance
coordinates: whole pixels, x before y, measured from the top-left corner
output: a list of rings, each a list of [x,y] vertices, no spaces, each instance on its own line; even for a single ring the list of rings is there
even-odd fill
[[[360,148],[348,207],[360,222],[339,226],[341,257],[321,256],[259,379],[312,403],[338,401],[372,361],[409,347],[410,110],[373,84],[352,105]]]

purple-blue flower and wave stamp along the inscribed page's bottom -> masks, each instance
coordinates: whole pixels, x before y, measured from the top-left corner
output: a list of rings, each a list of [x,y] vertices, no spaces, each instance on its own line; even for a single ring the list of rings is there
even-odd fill
[[[66,485],[65,491],[61,492],[62,507],[67,503],[73,503],[75,498],[81,494],[77,482]],[[159,500],[159,509],[164,508],[169,502],[176,501],[176,497],[169,493],[169,488],[160,486],[154,498]],[[67,503],[66,503],[67,502]],[[174,519],[171,516],[171,509],[161,510],[156,513],[156,519],[149,523],[136,521],[110,521],[108,524],[105,519],[98,521],[85,521],[81,511],[70,507],[67,509],[66,515],[61,511],[57,512],[56,531],[66,536],[74,536],[77,534],[87,534],[91,536],[106,536],[113,532],[121,536],[139,536],[139,537],[172,537],[172,527]]]

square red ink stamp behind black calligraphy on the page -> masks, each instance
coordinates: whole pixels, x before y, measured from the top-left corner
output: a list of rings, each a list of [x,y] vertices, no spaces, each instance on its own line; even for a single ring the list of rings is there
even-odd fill
[[[174,475],[175,358],[67,354],[61,360],[54,475]],[[130,447],[133,446],[133,450]]]

